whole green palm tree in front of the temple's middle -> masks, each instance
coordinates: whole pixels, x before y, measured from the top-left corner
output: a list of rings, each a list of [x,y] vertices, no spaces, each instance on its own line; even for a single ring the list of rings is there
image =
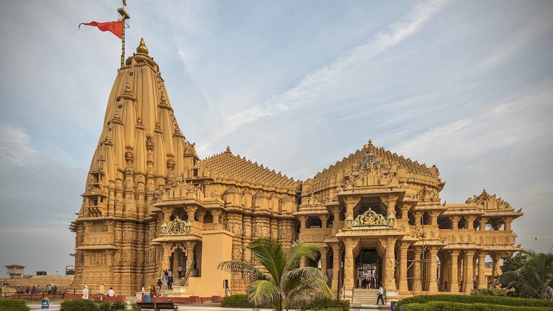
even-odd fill
[[[249,301],[255,305],[272,305],[275,311],[305,306],[315,299],[333,298],[326,284],[326,274],[315,267],[299,267],[301,257],[315,260],[321,247],[295,241],[290,251],[272,238],[259,238],[248,245],[268,273],[242,261],[223,261],[219,269],[242,273],[251,283]]]

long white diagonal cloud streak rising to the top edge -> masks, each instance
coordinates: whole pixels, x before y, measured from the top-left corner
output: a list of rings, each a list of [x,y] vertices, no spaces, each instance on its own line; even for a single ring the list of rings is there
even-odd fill
[[[444,4],[445,1],[433,0],[416,6],[406,17],[390,24],[387,30],[377,33],[369,43],[359,45],[342,54],[331,64],[311,72],[295,87],[269,98],[261,104],[223,118],[220,126],[208,131],[207,135],[199,141],[199,151],[206,150],[216,140],[244,124],[285,112],[309,102],[321,89],[332,84],[333,81],[339,80],[339,75],[348,68],[391,48],[415,33]]]

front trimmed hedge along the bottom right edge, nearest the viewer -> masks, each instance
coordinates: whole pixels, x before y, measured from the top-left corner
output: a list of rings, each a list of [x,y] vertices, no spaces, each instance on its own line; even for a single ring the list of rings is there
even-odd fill
[[[513,307],[488,303],[458,303],[429,301],[426,303],[408,303],[401,305],[401,311],[551,311],[547,307]]]

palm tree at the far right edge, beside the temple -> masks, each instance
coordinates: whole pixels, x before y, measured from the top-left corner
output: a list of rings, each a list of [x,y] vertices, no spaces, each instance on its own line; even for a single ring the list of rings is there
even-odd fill
[[[533,250],[521,251],[527,258],[526,265],[500,276],[507,288],[514,288],[526,297],[545,299],[553,295],[553,254]]]

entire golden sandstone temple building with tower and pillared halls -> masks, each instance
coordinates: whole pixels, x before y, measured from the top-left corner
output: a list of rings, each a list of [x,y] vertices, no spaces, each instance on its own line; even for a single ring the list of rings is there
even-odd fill
[[[141,40],[113,83],[71,223],[72,287],[94,293],[105,283],[134,294],[172,270],[169,297],[224,296],[227,285],[241,293],[248,281],[218,264],[256,265],[248,244],[271,236],[285,247],[296,239],[320,245],[320,259],[300,265],[326,272],[341,298],[361,299],[371,280],[388,299],[469,293],[474,281],[484,288],[499,274],[500,256],[521,250],[511,224],[523,213],[507,201],[484,189],[446,204],[436,166],[363,143],[305,181],[229,147],[200,159]]]

